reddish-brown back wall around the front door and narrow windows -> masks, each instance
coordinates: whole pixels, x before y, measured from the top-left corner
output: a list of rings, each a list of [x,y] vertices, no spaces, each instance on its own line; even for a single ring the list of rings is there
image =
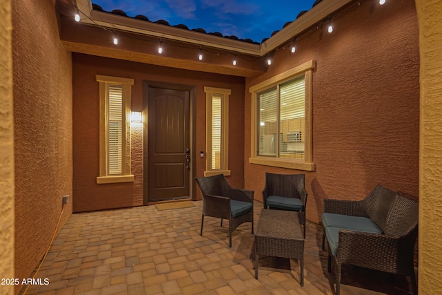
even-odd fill
[[[135,182],[97,184],[99,172],[99,88],[95,75],[126,77],[135,80],[132,87],[132,109],[142,111],[143,81],[166,82],[195,86],[196,90],[196,157],[192,159],[196,175],[202,176],[205,151],[204,86],[229,88],[229,169],[227,180],[234,187],[243,187],[244,171],[244,78],[162,66],[140,64],[90,55],[73,55],[73,157],[74,157],[74,211],[91,211],[143,204],[142,137],[140,130],[132,129],[132,173]],[[133,126],[134,127],[134,126]],[[200,191],[194,190],[200,198]]]

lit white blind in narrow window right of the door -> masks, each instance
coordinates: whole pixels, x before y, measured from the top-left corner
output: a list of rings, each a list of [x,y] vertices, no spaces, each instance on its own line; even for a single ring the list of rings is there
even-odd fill
[[[212,95],[212,170],[221,169],[222,95]]]

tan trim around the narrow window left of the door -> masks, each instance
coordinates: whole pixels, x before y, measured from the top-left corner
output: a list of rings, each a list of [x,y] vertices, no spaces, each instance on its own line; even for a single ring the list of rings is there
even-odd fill
[[[99,82],[99,176],[97,184],[133,182],[131,172],[131,95],[133,79],[96,75]],[[108,116],[107,116],[107,85],[119,84],[123,86],[123,104],[125,119],[123,122],[123,162],[122,175],[108,175]]]

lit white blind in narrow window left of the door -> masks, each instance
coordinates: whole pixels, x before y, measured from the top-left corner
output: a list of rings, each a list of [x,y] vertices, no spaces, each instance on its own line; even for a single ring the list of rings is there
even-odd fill
[[[108,85],[108,175],[122,175],[123,86]]]

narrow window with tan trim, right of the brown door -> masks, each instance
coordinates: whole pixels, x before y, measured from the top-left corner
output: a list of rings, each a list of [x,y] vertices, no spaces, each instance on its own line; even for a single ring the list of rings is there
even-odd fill
[[[230,89],[204,87],[206,93],[206,171],[204,176],[230,175],[229,95]]]

